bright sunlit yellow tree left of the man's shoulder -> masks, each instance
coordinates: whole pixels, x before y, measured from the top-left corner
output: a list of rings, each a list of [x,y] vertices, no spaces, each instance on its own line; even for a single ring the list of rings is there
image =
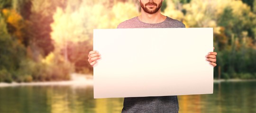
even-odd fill
[[[109,1],[105,0],[68,0],[66,8],[57,8],[54,14],[51,36],[55,41],[55,52],[63,54],[64,59],[73,63],[78,72],[92,71],[86,59],[92,50],[93,29],[116,28],[120,22],[138,14],[133,3],[118,2],[112,7],[107,3]]]

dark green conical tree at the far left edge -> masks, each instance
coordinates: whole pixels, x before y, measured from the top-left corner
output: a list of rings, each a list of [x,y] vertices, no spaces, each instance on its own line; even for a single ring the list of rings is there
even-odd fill
[[[6,82],[16,78],[16,70],[19,68],[19,62],[26,57],[25,47],[9,35],[7,23],[0,15],[0,71],[2,71],[2,80]]]

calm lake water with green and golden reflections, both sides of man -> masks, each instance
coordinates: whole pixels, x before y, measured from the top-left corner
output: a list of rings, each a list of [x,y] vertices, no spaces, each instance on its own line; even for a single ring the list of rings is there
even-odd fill
[[[0,113],[120,113],[123,98],[93,99],[93,87],[0,88]],[[214,84],[214,94],[179,96],[179,113],[256,113],[256,82]]]

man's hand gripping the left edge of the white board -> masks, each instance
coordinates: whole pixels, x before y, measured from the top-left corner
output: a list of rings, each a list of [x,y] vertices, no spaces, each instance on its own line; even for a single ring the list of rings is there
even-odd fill
[[[101,54],[98,51],[90,51],[88,54],[88,62],[93,67],[101,59]]]

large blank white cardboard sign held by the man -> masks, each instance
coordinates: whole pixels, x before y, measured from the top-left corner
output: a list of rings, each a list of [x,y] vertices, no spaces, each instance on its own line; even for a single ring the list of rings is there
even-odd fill
[[[213,93],[213,28],[94,29],[94,98]]]

